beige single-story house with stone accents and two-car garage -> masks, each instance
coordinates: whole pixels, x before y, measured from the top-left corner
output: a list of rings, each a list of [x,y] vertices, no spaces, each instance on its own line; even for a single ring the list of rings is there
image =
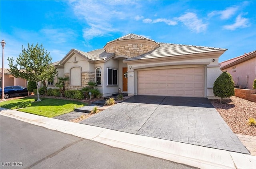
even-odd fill
[[[103,49],[72,49],[53,63],[59,77],[69,77],[66,89],[79,90],[97,82],[103,96],[128,95],[214,97],[214,81],[221,74],[218,58],[227,49],[158,43],[128,34]],[[56,78],[55,80],[56,81]],[[51,87],[50,85],[48,85]]]

